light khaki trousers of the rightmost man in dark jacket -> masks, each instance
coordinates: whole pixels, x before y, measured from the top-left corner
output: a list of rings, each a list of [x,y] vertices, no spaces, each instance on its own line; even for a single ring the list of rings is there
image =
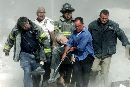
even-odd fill
[[[95,82],[96,87],[108,87],[108,73],[110,63],[111,57],[105,59],[95,58],[92,66],[90,84],[91,82]]]

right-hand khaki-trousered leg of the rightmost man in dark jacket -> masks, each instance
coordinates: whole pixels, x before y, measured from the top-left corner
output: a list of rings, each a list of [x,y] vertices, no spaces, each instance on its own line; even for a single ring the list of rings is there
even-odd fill
[[[101,87],[108,87],[108,73],[111,63],[111,57],[102,60],[101,64]]]

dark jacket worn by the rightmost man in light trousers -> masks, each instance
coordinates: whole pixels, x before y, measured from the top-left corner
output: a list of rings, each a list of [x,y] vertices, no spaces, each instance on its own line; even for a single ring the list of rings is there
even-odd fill
[[[122,42],[123,46],[129,44],[124,31],[111,20],[106,24],[102,24],[98,19],[91,22],[88,27],[92,34],[93,47],[97,58],[106,58],[115,54],[117,38]]]

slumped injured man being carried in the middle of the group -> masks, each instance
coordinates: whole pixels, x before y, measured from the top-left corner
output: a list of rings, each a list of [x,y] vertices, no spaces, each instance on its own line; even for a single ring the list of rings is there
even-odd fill
[[[51,77],[48,80],[48,83],[56,82],[58,87],[67,87],[67,84],[72,83],[72,53],[68,52],[65,60],[61,60],[61,56],[64,52],[64,46],[66,45],[68,39],[63,34],[58,34],[55,37],[57,46],[54,47],[52,52],[52,61],[51,61]]]

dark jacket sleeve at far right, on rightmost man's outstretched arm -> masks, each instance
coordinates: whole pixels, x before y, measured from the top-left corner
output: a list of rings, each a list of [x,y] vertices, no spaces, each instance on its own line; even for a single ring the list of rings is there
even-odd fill
[[[116,24],[116,34],[117,34],[118,39],[122,42],[123,46],[130,44],[127,36],[125,35],[124,31],[119,28],[118,24]]]

